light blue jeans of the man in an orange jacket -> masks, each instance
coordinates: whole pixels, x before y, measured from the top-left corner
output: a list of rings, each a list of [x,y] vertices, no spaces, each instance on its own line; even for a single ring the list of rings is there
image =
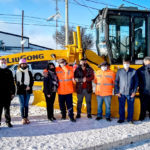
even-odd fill
[[[105,101],[105,108],[106,108],[105,117],[110,118],[111,96],[97,96],[97,103],[98,103],[97,117],[102,117],[102,114],[103,114],[103,110],[102,110],[103,101]]]

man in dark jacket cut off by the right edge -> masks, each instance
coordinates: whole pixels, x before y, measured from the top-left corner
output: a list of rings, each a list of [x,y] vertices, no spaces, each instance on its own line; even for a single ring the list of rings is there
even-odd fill
[[[139,92],[141,102],[140,120],[144,120],[146,111],[150,117],[150,57],[144,58],[144,65],[137,70],[139,77]]]

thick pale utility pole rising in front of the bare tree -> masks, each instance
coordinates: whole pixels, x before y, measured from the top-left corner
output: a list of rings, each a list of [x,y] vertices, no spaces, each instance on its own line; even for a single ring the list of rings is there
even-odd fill
[[[68,45],[68,0],[65,0],[65,44]]]

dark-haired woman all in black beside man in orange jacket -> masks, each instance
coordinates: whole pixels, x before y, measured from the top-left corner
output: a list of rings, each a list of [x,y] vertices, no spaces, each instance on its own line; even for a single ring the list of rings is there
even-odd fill
[[[47,69],[43,71],[43,74],[43,92],[46,99],[47,118],[48,120],[53,121],[56,120],[54,117],[54,101],[58,88],[58,79],[55,72],[55,65],[53,63],[49,63]]]

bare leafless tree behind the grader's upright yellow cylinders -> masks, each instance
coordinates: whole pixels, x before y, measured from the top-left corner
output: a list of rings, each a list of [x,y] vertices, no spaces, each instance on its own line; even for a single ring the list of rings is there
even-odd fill
[[[73,31],[75,31],[75,27],[69,27],[69,44],[73,44]],[[56,38],[57,35],[57,38]],[[64,48],[65,46],[65,27],[61,26],[60,30],[55,32],[53,35],[54,40],[57,40],[57,43]],[[85,28],[81,28],[81,40],[83,49],[90,49],[93,46],[93,36],[92,34],[86,33]]]

